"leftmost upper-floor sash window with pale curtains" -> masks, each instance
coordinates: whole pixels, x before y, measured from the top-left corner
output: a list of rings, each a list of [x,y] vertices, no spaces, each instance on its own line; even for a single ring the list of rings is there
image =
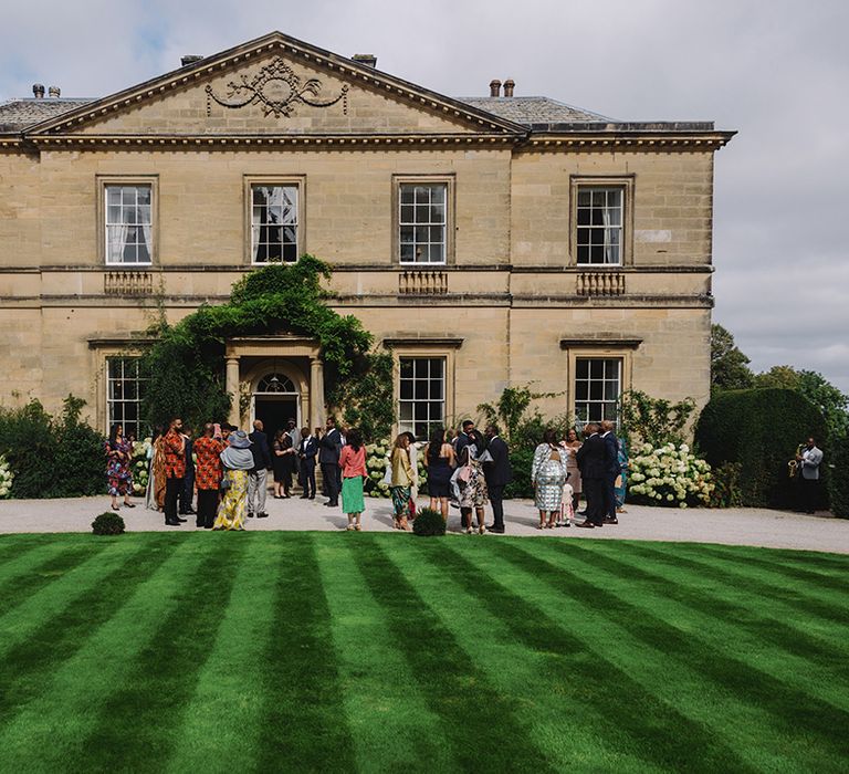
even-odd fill
[[[154,254],[151,184],[107,184],[105,245],[107,264],[148,264]]]

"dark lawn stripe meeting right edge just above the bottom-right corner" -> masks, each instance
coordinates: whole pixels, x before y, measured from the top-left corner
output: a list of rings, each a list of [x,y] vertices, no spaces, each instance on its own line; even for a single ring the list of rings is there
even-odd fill
[[[591,587],[590,593],[605,614],[615,617],[636,639],[680,659],[708,680],[724,686],[741,700],[767,710],[776,724],[784,725],[789,735],[799,735],[798,732],[804,730],[806,736],[818,740],[818,746],[827,749],[831,754],[849,754],[849,743],[831,733],[831,729],[849,724],[849,713],[843,710],[792,690],[755,665],[729,656],[701,642],[691,632],[682,631],[656,615],[651,607],[635,605],[620,594],[593,583],[594,576],[602,583],[609,583],[610,578],[590,563],[581,562],[580,569],[574,572],[553,561],[532,555],[516,542],[500,542],[497,550],[509,561],[541,576],[545,583],[562,588],[564,594],[574,594],[565,588],[568,584],[583,586],[584,592]],[[617,588],[616,583],[614,587]],[[629,596],[633,596],[631,590],[627,589]]]

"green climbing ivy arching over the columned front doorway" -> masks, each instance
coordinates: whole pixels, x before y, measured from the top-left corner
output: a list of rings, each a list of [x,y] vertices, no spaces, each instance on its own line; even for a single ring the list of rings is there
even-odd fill
[[[170,324],[164,313],[147,332],[153,345],[142,357],[149,375],[143,410],[153,425],[182,417],[193,427],[230,412],[224,388],[224,348],[233,336],[294,333],[315,338],[325,364],[325,397],[332,410],[381,437],[392,423],[391,356],[373,352],[374,336],[353,315],[327,304],[322,285],[331,268],[313,255],[272,264],[237,282],[226,304],[205,304]],[[387,370],[388,369],[388,370]],[[388,373],[388,378],[387,378]]]

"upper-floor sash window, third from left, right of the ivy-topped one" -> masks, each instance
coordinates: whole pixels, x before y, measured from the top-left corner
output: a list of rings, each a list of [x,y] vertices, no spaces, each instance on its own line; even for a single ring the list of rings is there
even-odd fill
[[[401,181],[398,187],[398,247],[401,263],[441,264],[449,253],[449,184]]]

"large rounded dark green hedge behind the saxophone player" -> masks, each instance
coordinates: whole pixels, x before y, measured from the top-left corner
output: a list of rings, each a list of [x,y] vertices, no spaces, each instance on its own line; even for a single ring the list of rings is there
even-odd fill
[[[714,468],[740,463],[741,502],[750,508],[795,508],[798,482],[787,462],[799,443],[814,436],[827,446],[819,409],[792,389],[741,389],[721,393],[704,407],[695,428],[699,450]],[[827,466],[821,472],[827,478]],[[820,488],[827,508],[826,487]]]

